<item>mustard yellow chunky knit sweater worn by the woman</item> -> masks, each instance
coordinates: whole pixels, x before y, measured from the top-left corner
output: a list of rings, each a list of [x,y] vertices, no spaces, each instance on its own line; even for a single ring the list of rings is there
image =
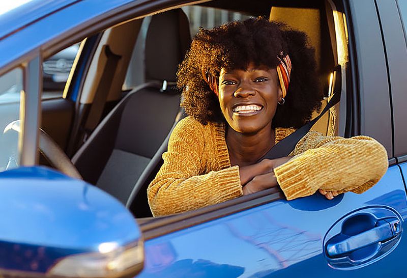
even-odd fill
[[[294,129],[277,128],[276,143]],[[274,169],[287,200],[317,189],[362,193],[388,166],[385,148],[368,136],[323,136],[310,131],[288,162]],[[202,125],[191,117],[172,131],[164,164],[148,188],[155,216],[183,212],[242,196],[239,166],[230,166],[225,125]]]

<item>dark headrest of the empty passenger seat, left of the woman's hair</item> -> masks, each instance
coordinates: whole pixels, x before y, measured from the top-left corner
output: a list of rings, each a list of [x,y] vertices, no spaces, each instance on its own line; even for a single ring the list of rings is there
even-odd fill
[[[153,15],[146,36],[146,81],[176,81],[190,43],[189,21],[181,9]]]

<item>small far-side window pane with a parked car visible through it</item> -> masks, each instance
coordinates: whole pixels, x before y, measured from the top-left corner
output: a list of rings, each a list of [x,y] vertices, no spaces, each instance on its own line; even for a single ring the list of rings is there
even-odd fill
[[[79,44],[71,45],[60,52],[52,55],[42,63],[43,99],[60,98],[64,92]]]

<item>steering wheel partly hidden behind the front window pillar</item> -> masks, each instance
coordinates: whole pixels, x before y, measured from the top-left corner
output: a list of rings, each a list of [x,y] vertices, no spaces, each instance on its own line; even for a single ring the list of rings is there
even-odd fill
[[[20,131],[21,131],[20,120],[17,120],[9,123],[5,127],[3,134],[7,134],[10,132],[19,133]],[[64,153],[60,146],[58,146],[58,144],[56,144],[55,141],[41,128],[39,139],[40,139],[39,140],[40,153],[48,160],[48,162],[55,169],[59,170],[60,172],[64,173],[69,177],[82,179],[82,176],[79,174],[78,170],[76,169],[72,161],[69,159],[69,157]],[[13,159],[13,156],[10,156],[10,159]]]

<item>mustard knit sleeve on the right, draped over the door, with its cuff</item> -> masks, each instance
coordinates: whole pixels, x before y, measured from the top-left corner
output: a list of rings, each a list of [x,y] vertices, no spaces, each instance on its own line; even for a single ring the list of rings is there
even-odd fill
[[[373,138],[323,136],[310,131],[288,162],[274,169],[287,200],[313,194],[319,188],[363,193],[386,173],[386,149]]]

